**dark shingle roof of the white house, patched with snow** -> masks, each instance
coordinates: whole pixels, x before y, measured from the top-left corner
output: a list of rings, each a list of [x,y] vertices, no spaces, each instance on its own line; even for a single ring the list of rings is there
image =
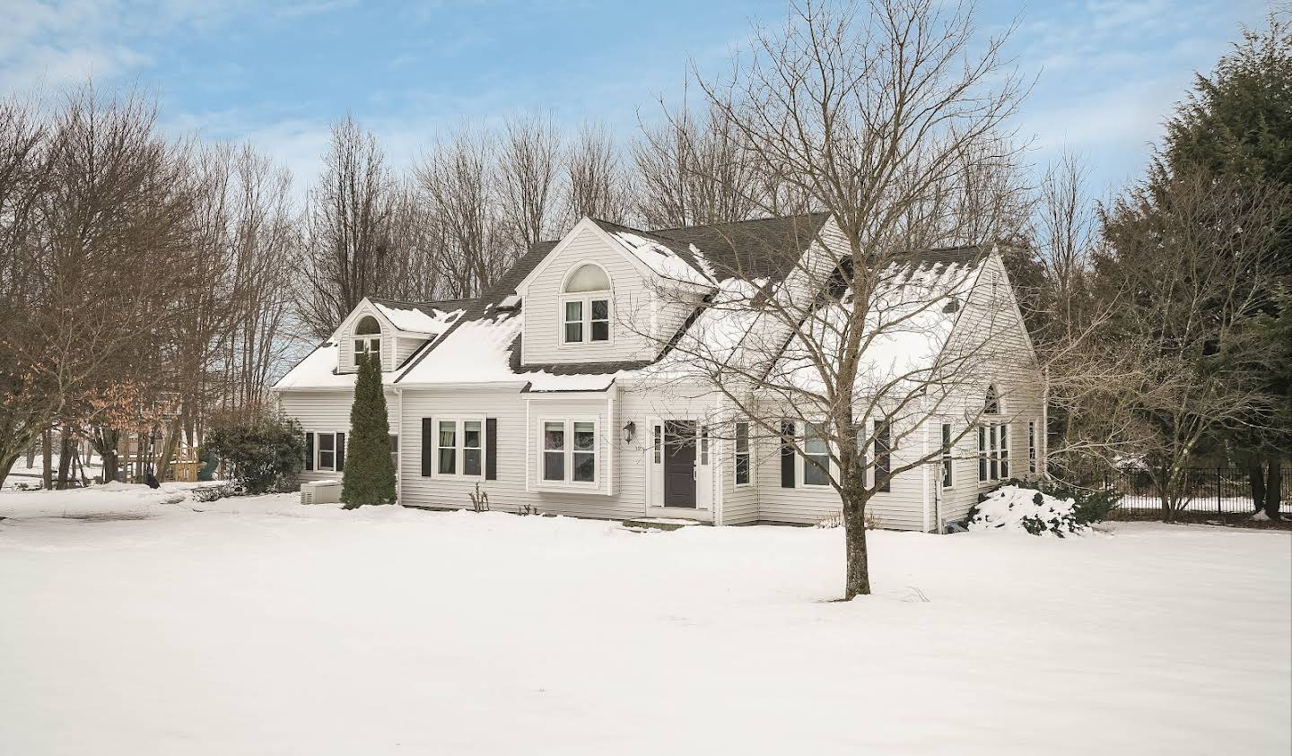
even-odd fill
[[[621,377],[682,376],[687,359],[694,361],[696,354],[704,354],[711,364],[713,361],[739,359],[742,350],[771,354],[769,344],[760,340],[775,337],[776,348],[786,348],[774,367],[778,376],[782,380],[788,376],[796,381],[813,381],[810,362],[796,355],[795,340],[787,345],[783,331],[775,336],[774,330],[758,326],[762,317],[760,300],[775,296],[773,292],[786,284],[784,275],[792,275],[793,270],[769,265],[769,277],[752,282],[734,271],[747,273],[753,261],[766,256],[758,249],[769,247],[758,244],[791,244],[795,251],[809,253],[809,246],[819,238],[827,221],[827,216],[815,215],[665,231],[638,231],[593,221],[650,270],[669,280],[695,284],[708,293],[663,354],[636,362],[521,363],[525,314],[518,287],[541,266],[557,247],[556,242],[532,247],[494,288],[477,300],[370,300],[397,328],[430,337],[404,366],[388,371],[382,380],[406,386],[513,384],[530,392],[605,390]],[[753,246],[744,249],[734,243],[740,240]],[[702,246],[704,243],[729,244],[730,248],[714,255]],[[863,380],[882,383],[929,370],[934,364],[955,322],[955,314],[944,311],[943,304],[959,296],[961,288],[966,291],[982,258],[982,251],[977,248],[934,251],[890,266],[884,273],[881,280],[886,283],[872,308],[882,315],[871,317],[870,327],[875,336],[866,348]],[[822,323],[846,317],[851,306],[846,297],[827,305],[820,314]],[[319,346],[275,389],[353,386],[353,373],[337,373],[337,357],[335,342]]]

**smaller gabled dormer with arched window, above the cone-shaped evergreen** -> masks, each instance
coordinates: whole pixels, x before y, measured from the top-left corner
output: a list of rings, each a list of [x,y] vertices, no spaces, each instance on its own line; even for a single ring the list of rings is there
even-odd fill
[[[419,348],[447,331],[465,302],[401,302],[364,297],[332,335],[337,345],[336,371],[357,372],[359,358],[376,355],[381,370],[401,367]]]

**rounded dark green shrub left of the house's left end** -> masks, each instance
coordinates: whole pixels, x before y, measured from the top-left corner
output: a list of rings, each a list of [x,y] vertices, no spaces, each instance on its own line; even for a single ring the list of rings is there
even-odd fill
[[[292,417],[262,415],[212,429],[203,448],[225,461],[244,492],[283,491],[305,463],[305,433]]]

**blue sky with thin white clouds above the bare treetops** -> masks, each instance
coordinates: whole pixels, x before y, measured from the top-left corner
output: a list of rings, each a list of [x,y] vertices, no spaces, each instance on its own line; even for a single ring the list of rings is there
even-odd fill
[[[0,92],[57,90],[93,74],[154,92],[173,133],[249,140],[311,180],[328,123],[353,112],[406,164],[466,119],[550,111],[624,137],[686,62],[716,71],[782,1],[357,3],[0,0]],[[1037,76],[1018,120],[1044,165],[1087,156],[1092,194],[1136,177],[1196,70],[1209,71],[1260,0],[985,0],[985,32],[1016,18],[1009,53]]]

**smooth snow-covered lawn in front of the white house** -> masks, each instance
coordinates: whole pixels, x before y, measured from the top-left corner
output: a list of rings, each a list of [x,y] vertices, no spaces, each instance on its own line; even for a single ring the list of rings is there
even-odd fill
[[[0,753],[1292,748],[1287,532],[872,532],[840,604],[841,530],[177,494],[0,492]]]

